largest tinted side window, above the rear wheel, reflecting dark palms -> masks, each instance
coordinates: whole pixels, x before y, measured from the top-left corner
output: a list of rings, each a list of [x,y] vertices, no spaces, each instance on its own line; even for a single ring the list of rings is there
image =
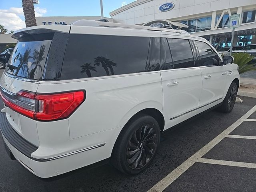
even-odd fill
[[[149,37],[70,34],[60,79],[159,70],[157,41],[159,47],[160,40]],[[159,52],[149,54],[149,45]]]

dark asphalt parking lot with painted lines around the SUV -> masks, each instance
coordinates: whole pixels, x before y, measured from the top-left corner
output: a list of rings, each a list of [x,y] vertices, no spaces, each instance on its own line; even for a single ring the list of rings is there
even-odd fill
[[[165,132],[154,162],[138,176],[106,164],[40,180],[9,159],[0,137],[0,191],[256,191],[256,98],[240,98],[230,114],[214,110]]]

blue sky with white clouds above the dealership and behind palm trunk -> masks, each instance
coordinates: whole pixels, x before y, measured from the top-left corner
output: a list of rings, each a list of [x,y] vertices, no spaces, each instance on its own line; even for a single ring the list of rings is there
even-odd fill
[[[134,0],[103,0],[105,17]],[[34,4],[36,16],[100,16],[100,0],[39,0]],[[24,28],[22,0],[0,0],[0,25],[10,32]]]

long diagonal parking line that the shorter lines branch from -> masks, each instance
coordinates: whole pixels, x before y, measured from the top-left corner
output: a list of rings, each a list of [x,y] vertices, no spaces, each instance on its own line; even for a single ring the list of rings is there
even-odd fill
[[[246,120],[251,114],[256,111],[256,106],[251,108],[246,114],[244,114],[240,119],[234,122],[216,138],[210,141],[206,146],[201,148],[198,152],[184,161],[180,166],[170,172],[157,184],[155,184],[148,192],[162,192],[166,187],[168,187],[172,182],[174,182],[182,173],[184,173],[188,168],[190,168],[199,158],[204,156],[208,151],[210,151],[216,144],[218,144],[223,138],[230,134],[236,127],[238,127],[244,120]]]

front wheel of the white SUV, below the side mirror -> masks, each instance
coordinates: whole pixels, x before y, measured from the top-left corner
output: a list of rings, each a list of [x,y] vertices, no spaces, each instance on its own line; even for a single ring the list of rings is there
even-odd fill
[[[220,106],[219,110],[223,113],[230,113],[234,108],[236,102],[236,94],[237,94],[237,85],[235,82],[232,82],[230,85],[228,92],[222,105]]]

